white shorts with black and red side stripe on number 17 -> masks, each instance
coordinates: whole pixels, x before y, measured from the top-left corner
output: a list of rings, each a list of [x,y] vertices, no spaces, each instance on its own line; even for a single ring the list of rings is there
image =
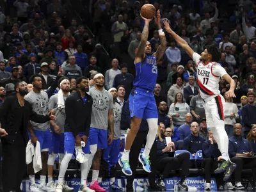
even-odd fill
[[[223,127],[223,129],[225,129],[224,104],[225,99],[222,95],[218,95],[208,102],[205,102],[204,109],[208,128]]]

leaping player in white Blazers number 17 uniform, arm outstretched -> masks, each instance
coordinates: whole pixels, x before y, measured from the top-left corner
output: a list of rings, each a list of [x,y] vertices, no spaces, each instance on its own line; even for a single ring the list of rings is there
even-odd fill
[[[236,97],[234,93],[236,83],[225,69],[219,63],[216,63],[221,57],[221,51],[216,45],[208,45],[200,55],[194,52],[185,40],[172,31],[166,21],[164,21],[164,28],[197,64],[198,86],[200,95],[205,100],[207,127],[212,130],[222,157],[221,166],[214,173],[226,172],[224,180],[227,180],[236,169],[236,164],[232,163],[228,156],[228,136],[225,131],[223,109],[225,99],[220,94],[219,81],[220,77],[223,77],[230,84],[230,89],[227,92],[229,97]]]

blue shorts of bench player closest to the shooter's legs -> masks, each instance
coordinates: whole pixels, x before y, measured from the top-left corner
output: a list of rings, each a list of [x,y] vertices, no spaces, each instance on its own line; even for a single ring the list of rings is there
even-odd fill
[[[108,148],[105,148],[103,151],[103,159],[106,161],[109,165],[115,166],[118,161],[119,156],[119,148],[120,148],[120,139],[113,140],[113,142],[108,145]]]

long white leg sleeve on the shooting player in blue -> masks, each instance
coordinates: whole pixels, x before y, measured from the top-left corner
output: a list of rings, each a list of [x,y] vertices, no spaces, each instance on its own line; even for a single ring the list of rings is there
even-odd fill
[[[157,118],[148,118],[147,119],[148,122],[148,134],[147,134],[147,143],[145,146],[145,150],[142,154],[142,157],[148,157],[151,147],[154,144],[154,141],[156,140],[156,133],[157,133],[157,122],[158,119]]]

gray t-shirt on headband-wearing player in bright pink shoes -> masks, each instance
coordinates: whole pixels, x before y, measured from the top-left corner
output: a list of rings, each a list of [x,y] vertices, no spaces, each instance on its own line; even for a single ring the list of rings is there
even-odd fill
[[[108,129],[108,109],[113,109],[113,96],[106,90],[99,91],[95,87],[90,88],[93,99],[91,127]]]

